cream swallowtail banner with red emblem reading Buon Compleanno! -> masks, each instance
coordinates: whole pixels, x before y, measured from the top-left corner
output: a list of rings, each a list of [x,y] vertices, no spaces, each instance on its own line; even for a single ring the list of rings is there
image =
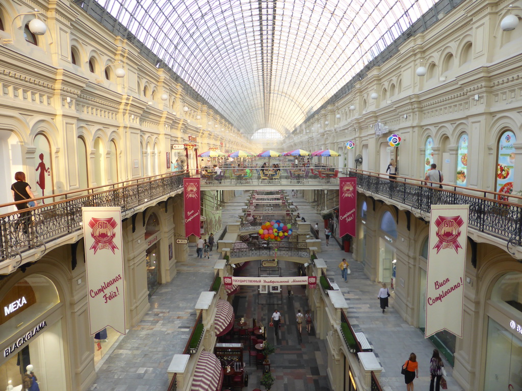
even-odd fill
[[[469,205],[432,205],[425,337],[447,330],[462,337]]]

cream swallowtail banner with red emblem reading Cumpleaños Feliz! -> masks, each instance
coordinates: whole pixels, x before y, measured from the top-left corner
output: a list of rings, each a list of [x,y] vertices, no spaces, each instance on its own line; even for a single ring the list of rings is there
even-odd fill
[[[125,335],[122,218],[119,207],[83,207],[90,333]]]

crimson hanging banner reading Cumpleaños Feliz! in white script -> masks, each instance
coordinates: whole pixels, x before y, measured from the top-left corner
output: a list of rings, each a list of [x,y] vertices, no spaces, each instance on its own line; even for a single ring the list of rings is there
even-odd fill
[[[357,178],[339,178],[339,237],[355,237]]]

